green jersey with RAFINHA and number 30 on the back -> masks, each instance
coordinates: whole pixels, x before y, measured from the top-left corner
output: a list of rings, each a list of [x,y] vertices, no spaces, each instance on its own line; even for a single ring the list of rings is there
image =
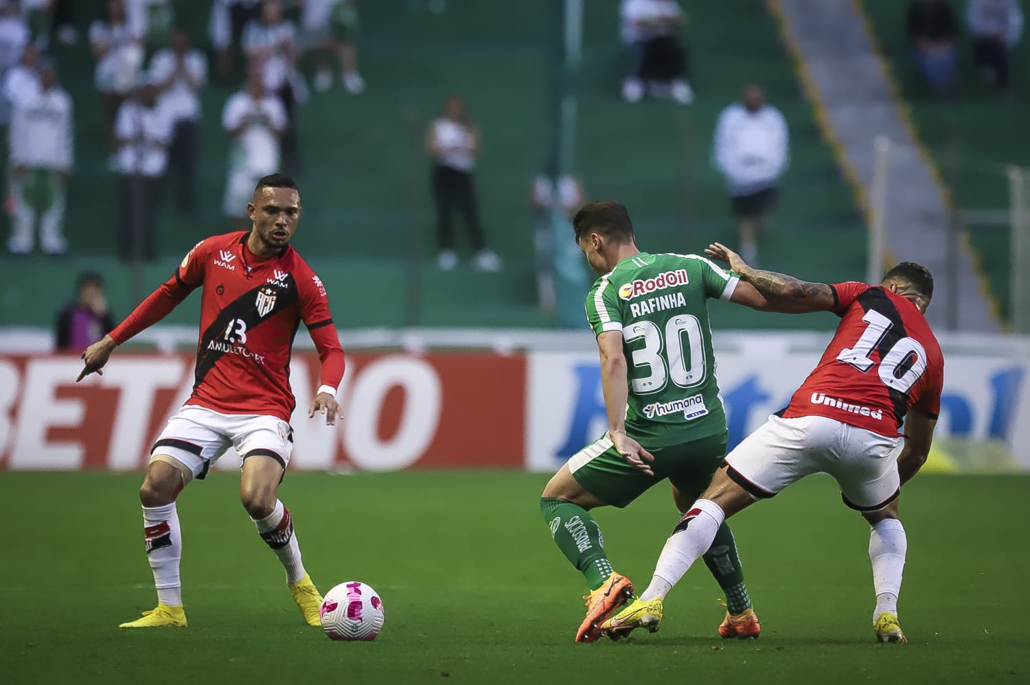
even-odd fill
[[[626,432],[645,448],[726,431],[707,300],[728,300],[737,282],[703,256],[641,252],[590,289],[586,315],[594,335],[622,333]]]

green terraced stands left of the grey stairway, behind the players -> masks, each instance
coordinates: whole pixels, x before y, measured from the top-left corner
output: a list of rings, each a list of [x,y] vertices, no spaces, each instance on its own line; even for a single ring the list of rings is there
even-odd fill
[[[776,23],[761,5],[750,3],[749,11],[761,12],[761,21],[737,22],[735,4],[687,7],[697,93],[688,107],[655,101],[629,105],[619,99],[618,3],[587,5],[576,171],[591,199],[619,199],[629,207],[643,249],[698,252],[712,240],[732,241],[722,181],[711,168],[711,136],[719,110],[737,97],[741,87],[749,80],[763,82],[791,129],[791,166],[762,244],[763,262],[814,279],[860,278],[862,221],[820,139]],[[178,5],[199,44],[207,42],[207,5]],[[446,6],[446,11],[432,13],[423,3],[400,0],[362,5],[367,92],[348,96],[337,87],[313,94],[299,113],[305,171],[298,180],[305,215],[295,244],[329,286],[342,326],[548,327],[535,302],[528,194],[550,139],[553,11],[547,0],[452,0]],[[84,28],[91,19],[78,21]],[[111,256],[116,179],[104,166],[103,141],[95,133],[100,102],[92,85],[92,58],[81,42],[60,48],[57,57],[78,119],[78,160],[67,217],[72,255],[58,262],[2,258],[15,284],[0,298],[0,316],[11,323],[48,324],[52,312],[70,295],[75,273],[87,268],[104,273],[112,308],[124,315],[167,277],[185,249],[228,229],[220,216],[227,142],[219,119],[221,104],[234,89],[216,84],[204,95],[199,215],[179,218],[166,202],[158,227],[163,258],[133,272]],[[499,274],[474,273],[464,265],[441,274],[433,260],[433,211],[421,140],[425,124],[450,92],[466,95],[483,131],[477,182],[489,242],[505,260]],[[421,271],[418,285],[408,288],[411,249],[421,258]],[[418,296],[417,317],[406,318],[409,292]],[[832,317],[716,310],[713,320],[720,327],[833,324]],[[169,320],[192,323],[194,317],[187,306]]]

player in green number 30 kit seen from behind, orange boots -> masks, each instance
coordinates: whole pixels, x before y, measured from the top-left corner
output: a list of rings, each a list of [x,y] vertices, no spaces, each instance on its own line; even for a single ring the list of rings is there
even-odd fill
[[[632,583],[613,570],[588,510],[625,507],[667,478],[677,507],[686,512],[726,453],[707,300],[774,311],[789,307],[776,306],[703,256],[642,252],[629,214],[617,202],[586,205],[573,226],[580,249],[600,274],[586,313],[600,350],[609,430],[558,470],[540,507],[554,542],[590,585],[576,642],[593,642],[603,631],[612,638],[632,627],[653,632],[662,605],[644,604],[642,616],[625,622],[631,627],[604,625],[632,595]],[[761,626],[729,526],[719,528],[703,559],[728,602],[720,635],[757,638]]]

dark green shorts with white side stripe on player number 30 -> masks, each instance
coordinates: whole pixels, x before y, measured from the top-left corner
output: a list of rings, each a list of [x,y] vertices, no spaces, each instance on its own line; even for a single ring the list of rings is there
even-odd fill
[[[631,436],[630,436],[631,437]],[[613,507],[625,507],[664,479],[678,490],[700,494],[726,455],[727,433],[648,451],[654,476],[634,469],[616,451],[606,433],[569,459],[569,471],[588,492]]]

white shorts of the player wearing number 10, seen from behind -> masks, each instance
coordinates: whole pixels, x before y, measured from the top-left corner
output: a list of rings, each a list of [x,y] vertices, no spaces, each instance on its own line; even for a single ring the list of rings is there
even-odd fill
[[[897,438],[825,416],[769,416],[726,455],[727,475],[756,499],[814,473],[828,473],[844,503],[880,511],[898,494]]]

